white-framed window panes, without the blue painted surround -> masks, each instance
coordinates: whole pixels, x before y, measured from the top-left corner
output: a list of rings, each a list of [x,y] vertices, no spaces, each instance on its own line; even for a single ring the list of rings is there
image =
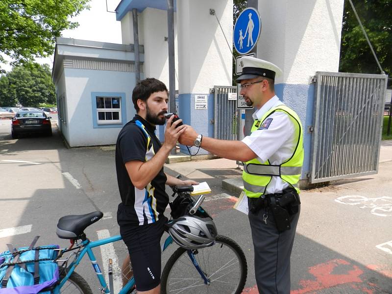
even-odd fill
[[[96,97],[97,123],[122,123],[121,97]]]

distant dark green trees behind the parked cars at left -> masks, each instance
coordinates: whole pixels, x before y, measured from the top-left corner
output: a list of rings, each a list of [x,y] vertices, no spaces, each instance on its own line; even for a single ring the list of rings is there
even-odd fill
[[[48,64],[16,66],[0,77],[0,105],[38,107],[56,103],[54,84]]]

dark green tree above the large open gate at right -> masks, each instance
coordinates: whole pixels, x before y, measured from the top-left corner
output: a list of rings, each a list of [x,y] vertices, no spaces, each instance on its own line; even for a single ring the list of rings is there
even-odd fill
[[[385,73],[392,74],[392,0],[352,0]],[[344,1],[340,72],[380,73],[348,0]]]

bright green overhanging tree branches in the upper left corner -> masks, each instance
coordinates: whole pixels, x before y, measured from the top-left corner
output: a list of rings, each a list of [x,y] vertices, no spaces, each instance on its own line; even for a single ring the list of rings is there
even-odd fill
[[[88,9],[88,1],[1,0],[0,53],[15,59],[13,64],[51,55],[61,31],[78,26],[68,18]],[[4,62],[0,55],[0,63]]]

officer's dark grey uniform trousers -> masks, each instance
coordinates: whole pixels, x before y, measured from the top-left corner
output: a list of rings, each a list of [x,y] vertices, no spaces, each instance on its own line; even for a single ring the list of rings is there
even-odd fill
[[[249,223],[254,246],[254,267],[257,288],[262,294],[290,294],[290,255],[293,249],[298,213],[293,216],[291,229],[279,232],[269,211],[267,224],[265,209],[249,211]]]

